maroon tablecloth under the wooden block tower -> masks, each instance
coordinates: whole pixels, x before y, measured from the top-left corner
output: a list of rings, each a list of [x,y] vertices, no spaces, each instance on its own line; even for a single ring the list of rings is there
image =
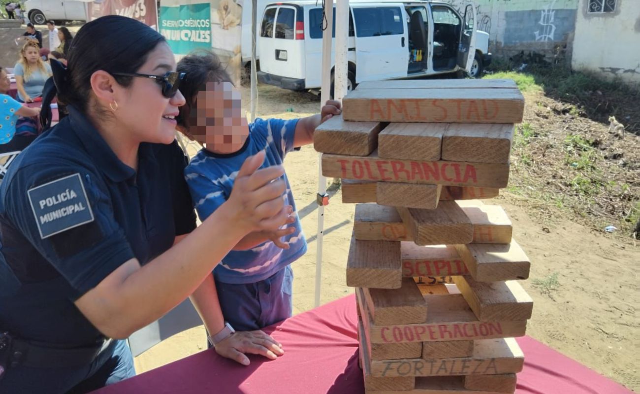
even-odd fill
[[[352,295],[265,330],[285,349],[275,361],[250,356],[251,365],[241,366],[205,350],[95,393],[364,393],[356,322]],[[518,343],[525,366],[517,394],[632,393],[532,338]]]

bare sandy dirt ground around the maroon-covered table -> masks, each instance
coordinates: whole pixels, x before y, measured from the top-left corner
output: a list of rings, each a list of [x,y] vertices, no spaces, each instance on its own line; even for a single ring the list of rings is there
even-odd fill
[[[248,89],[243,91],[248,108]],[[260,86],[260,117],[294,118],[316,113],[319,99]],[[285,160],[296,204],[308,240],[308,252],[294,268],[294,313],[313,308],[316,274],[317,160],[313,147],[292,152]],[[506,209],[514,238],[532,262],[531,277],[522,285],[534,299],[527,334],[628,388],[640,390],[638,274],[640,250],[631,240],[613,238],[558,215],[540,221],[531,202],[508,192],[490,201]],[[332,196],[324,214],[321,303],[353,292],[345,283],[345,267],[353,226],[353,204]],[[556,281],[557,279],[557,281]],[[286,344],[284,344],[286,347]],[[138,373],[205,349],[203,327],[163,341],[136,357]]]

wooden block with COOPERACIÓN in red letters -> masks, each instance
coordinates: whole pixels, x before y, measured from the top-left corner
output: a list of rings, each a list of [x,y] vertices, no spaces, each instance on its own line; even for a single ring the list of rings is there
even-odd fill
[[[431,289],[445,285],[424,286]],[[440,293],[440,291],[438,291]],[[356,289],[358,297],[364,298]],[[461,294],[425,295],[427,321],[419,324],[374,325],[369,322],[371,343],[469,341],[523,336],[527,322],[479,322]],[[363,313],[364,315],[364,313]]]

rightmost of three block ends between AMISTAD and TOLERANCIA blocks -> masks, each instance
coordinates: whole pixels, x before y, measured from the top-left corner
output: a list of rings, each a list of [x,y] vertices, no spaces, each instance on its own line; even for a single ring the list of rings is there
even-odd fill
[[[442,160],[509,163],[513,124],[448,124]]]

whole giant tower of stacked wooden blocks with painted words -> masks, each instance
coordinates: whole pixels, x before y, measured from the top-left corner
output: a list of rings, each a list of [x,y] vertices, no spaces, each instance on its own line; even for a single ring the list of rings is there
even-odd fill
[[[533,302],[529,259],[500,206],[524,97],[506,79],[364,82],[316,129],[324,176],[356,205],[368,394],[513,393]]]

